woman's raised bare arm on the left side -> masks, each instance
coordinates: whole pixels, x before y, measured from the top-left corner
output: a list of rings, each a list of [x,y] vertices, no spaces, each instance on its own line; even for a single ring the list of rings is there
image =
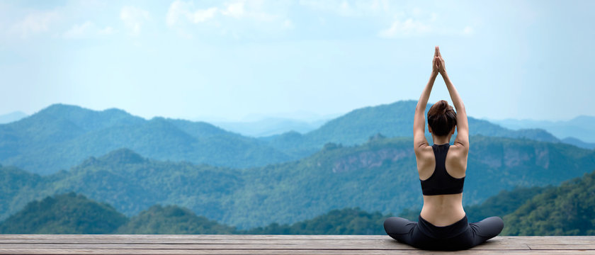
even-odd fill
[[[426,112],[426,106],[428,105],[428,99],[430,98],[430,93],[432,91],[433,83],[436,81],[436,77],[438,76],[438,47],[434,51],[434,56],[432,60],[432,72],[430,75],[430,80],[424,91],[421,92],[421,96],[419,96],[419,100],[417,101],[417,106],[415,106],[415,116],[413,118],[413,145],[416,154],[419,153],[420,149],[429,146],[428,140],[426,139],[425,130],[426,130],[426,119],[424,118],[424,113]]]

